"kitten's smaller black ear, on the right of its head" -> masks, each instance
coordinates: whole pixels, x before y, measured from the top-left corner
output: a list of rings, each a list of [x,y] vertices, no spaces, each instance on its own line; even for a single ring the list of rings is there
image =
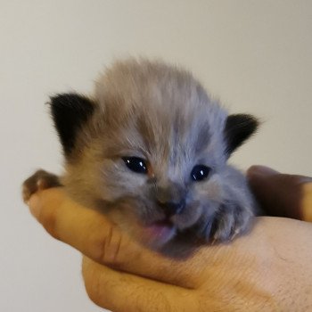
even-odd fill
[[[226,137],[226,154],[231,155],[259,127],[259,120],[247,114],[229,115],[224,129]]]

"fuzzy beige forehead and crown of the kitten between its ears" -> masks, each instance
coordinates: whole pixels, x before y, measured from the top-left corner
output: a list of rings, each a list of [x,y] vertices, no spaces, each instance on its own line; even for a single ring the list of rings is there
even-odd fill
[[[140,145],[158,158],[191,157],[222,141],[226,111],[189,72],[162,62],[115,63],[96,84],[95,99],[103,118],[121,129],[127,144]]]

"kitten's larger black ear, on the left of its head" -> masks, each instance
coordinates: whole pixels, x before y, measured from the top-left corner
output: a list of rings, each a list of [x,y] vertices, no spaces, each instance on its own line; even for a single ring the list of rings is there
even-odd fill
[[[63,151],[69,156],[78,130],[94,112],[94,103],[80,94],[57,94],[51,97],[50,106]]]

